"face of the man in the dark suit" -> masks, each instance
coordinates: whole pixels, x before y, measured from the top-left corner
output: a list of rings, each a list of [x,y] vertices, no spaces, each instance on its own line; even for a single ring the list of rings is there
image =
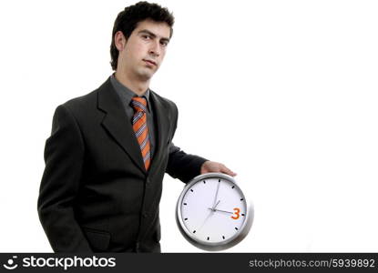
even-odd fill
[[[122,67],[120,72],[139,80],[149,80],[164,59],[169,35],[170,27],[167,23],[152,20],[139,22],[128,40],[125,40],[126,45],[117,46],[118,67]]]

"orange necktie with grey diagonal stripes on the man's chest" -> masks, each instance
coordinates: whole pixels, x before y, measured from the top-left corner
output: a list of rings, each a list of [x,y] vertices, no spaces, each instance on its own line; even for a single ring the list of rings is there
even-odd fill
[[[143,162],[148,170],[149,164],[151,162],[151,154],[149,147],[149,138],[148,138],[148,126],[147,126],[147,101],[144,97],[135,96],[131,100],[131,106],[134,108],[133,116],[133,129],[135,136],[137,137],[140,151],[142,152]]]

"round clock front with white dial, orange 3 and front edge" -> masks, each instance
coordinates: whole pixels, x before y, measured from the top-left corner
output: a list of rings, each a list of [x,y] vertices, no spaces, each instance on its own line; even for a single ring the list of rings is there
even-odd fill
[[[226,246],[245,228],[250,217],[248,208],[232,177],[203,175],[184,188],[177,217],[191,240],[208,247]]]

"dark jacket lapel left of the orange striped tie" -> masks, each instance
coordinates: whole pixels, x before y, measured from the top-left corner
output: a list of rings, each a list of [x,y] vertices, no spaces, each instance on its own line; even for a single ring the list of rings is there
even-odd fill
[[[141,171],[146,172],[131,121],[128,120],[110,78],[98,88],[97,107],[106,113],[102,126],[113,136],[117,144],[128,154]]]

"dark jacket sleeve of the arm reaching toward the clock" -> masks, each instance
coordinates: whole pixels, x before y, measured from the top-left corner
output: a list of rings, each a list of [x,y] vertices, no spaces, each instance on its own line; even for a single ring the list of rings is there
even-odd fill
[[[178,124],[179,111],[176,105],[173,104],[173,117],[175,124],[173,127],[172,137],[175,134]],[[179,178],[184,183],[188,183],[193,177],[200,175],[200,167],[208,159],[189,155],[181,150],[179,147],[170,143],[169,146],[169,160],[166,172],[169,176]]]

